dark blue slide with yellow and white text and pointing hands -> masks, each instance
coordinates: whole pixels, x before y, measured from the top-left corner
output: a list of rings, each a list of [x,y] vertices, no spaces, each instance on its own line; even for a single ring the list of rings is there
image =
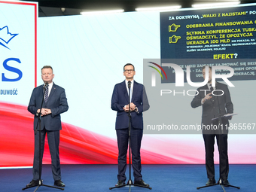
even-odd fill
[[[194,82],[206,64],[232,67],[230,81],[255,80],[255,14],[252,5],[160,13],[161,59],[187,59],[176,62]]]

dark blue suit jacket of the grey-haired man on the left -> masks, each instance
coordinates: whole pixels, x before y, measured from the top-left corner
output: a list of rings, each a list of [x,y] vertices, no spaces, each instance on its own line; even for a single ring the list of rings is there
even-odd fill
[[[44,85],[35,87],[29,101],[28,110],[32,114],[35,114],[34,130],[38,124],[38,117],[36,116],[36,113],[38,108],[41,108],[41,102],[44,96],[43,87]],[[61,130],[60,114],[68,111],[69,109],[65,90],[53,83],[47,103],[43,102],[42,108],[50,108],[51,114],[41,117],[41,130],[43,130],[44,127],[46,130]]]

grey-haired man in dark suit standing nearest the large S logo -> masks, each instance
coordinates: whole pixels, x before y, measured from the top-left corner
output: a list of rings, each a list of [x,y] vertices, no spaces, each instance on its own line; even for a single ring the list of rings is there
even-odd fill
[[[41,78],[44,81],[44,84],[36,87],[33,90],[28,106],[29,112],[35,114],[35,152],[33,163],[33,179],[29,184],[26,185],[26,187],[36,186],[39,182],[39,167],[41,167],[41,165],[39,165],[38,116],[41,116],[41,160],[44,154],[44,139],[45,135],[47,134],[54,184],[59,187],[65,187],[65,184],[61,181],[59,163],[59,130],[62,129],[60,114],[68,111],[69,106],[65,90],[53,83],[54,74],[51,66],[44,66],[41,69]],[[41,108],[43,96],[44,102]]]

